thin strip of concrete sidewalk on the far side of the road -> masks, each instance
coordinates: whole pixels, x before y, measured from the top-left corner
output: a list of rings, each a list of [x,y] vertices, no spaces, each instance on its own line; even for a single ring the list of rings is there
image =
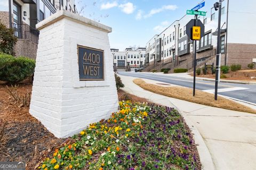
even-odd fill
[[[143,72],[143,73],[152,73],[152,72]],[[164,74],[163,72],[157,72],[154,74]],[[180,78],[187,78],[187,79],[193,79],[193,76],[189,75],[189,73],[170,73],[170,74],[164,74],[170,77],[180,77]],[[215,81],[215,79],[211,78],[201,78],[196,77],[197,80],[204,80],[204,81]],[[256,84],[256,81],[239,81],[239,80],[223,80],[221,79],[220,82],[227,82],[227,83],[238,83],[238,84]]]

